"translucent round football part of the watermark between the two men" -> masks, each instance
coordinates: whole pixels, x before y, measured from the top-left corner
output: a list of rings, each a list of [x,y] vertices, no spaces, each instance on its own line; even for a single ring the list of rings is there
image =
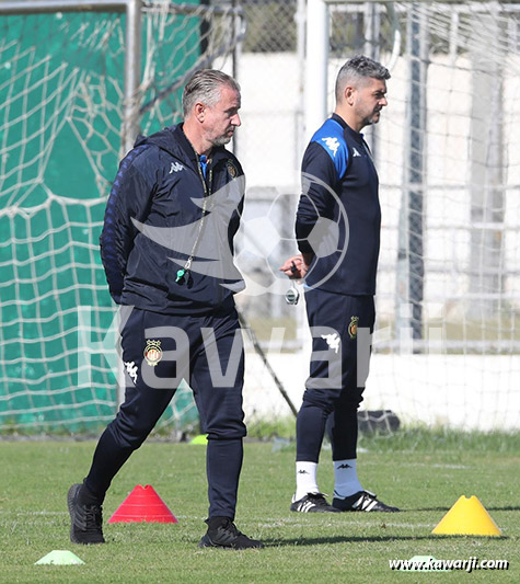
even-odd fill
[[[314,203],[313,194],[325,191],[331,203],[325,217]],[[309,271],[319,265],[320,261],[327,262],[327,273],[312,288],[322,286],[342,264],[348,247],[348,218],[344,205],[337,194],[320,179],[302,173],[302,203],[312,209],[314,225],[305,238],[314,251],[314,261]],[[241,242],[236,245],[236,265],[245,279],[246,287],[242,295],[259,296],[263,294],[285,295],[287,277],[279,272],[280,262],[298,253],[298,242],[292,234],[294,217],[300,195],[277,194],[270,204],[254,217],[242,217],[243,232]],[[315,278],[314,278],[315,279]]]

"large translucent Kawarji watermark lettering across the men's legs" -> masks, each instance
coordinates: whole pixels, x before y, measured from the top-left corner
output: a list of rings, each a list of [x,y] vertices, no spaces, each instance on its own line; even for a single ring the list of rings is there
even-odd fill
[[[105,369],[100,363],[103,359],[108,365],[115,379],[118,380],[119,387],[125,383],[137,383],[139,376],[149,386],[154,388],[171,388],[183,379],[189,378],[189,363],[190,363],[190,343],[183,329],[177,327],[159,327],[146,329],[147,337],[145,350],[140,348],[136,355],[126,355],[123,358],[123,352],[118,342],[119,332],[125,328],[126,322],[132,311],[131,306],[119,307],[118,311],[114,311],[112,322],[108,328],[100,329],[95,324],[95,314],[97,311],[92,307],[81,306],[78,308],[78,386],[91,387],[93,383],[93,375],[95,371]],[[395,332],[390,327],[375,328],[372,331],[367,327],[359,327],[358,321],[353,322],[357,317],[351,317],[350,324],[355,324],[357,344],[357,387],[362,388],[366,385],[369,375],[370,357],[372,346],[378,350],[391,350],[398,355],[407,355],[409,353],[407,343],[402,344],[400,341],[403,337],[409,337],[406,334],[400,334],[395,339]],[[430,329],[430,337],[432,345],[425,345],[425,354],[438,354],[440,351],[446,351],[443,347],[442,336],[437,336],[438,328]],[[351,336],[351,327],[348,327],[348,334]],[[406,333],[406,330],[401,330],[401,333]],[[233,385],[233,379],[239,373],[241,355],[243,351],[242,333],[246,333],[246,329],[238,329],[235,331],[232,346],[230,347],[228,363],[222,363],[219,352],[219,343],[216,341],[215,331],[212,329],[201,329],[203,343],[208,358],[210,375],[216,387],[228,387]],[[269,354],[281,354],[284,348],[284,339],[286,334],[285,328],[271,329],[271,337],[267,343],[266,352]],[[311,380],[312,387],[340,387],[342,383],[342,337],[339,333],[327,327],[311,328],[311,335],[313,339],[322,339],[325,341],[326,351],[313,352],[312,360],[326,362],[328,369],[327,378],[316,378]],[[346,337],[346,335],[345,335]],[[344,337],[344,340],[345,340]],[[173,341],[172,342],[170,342]],[[174,346],[174,350],[165,350],[165,343]],[[438,345],[440,343],[440,345]],[[141,345],[142,347],[142,345]],[[141,353],[142,351],[142,353]],[[140,364],[148,363],[149,367],[140,367]],[[171,368],[177,373],[175,377],[161,377],[162,374],[157,374],[157,365],[161,364],[165,369]],[[120,374],[125,373],[124,378]],[[166,374],[170,375],[170,374]]]

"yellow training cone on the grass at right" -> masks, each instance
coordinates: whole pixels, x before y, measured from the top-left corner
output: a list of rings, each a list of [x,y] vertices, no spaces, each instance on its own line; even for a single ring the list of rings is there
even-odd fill
[[[431,531],[438,536],[501,536],[478,499],[462,495]]]

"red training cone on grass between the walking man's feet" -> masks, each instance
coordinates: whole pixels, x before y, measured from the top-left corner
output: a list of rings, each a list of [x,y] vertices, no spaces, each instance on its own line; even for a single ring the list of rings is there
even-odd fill
[[[138,484],[117,507],[108,523],[178,523],[153,486]]]

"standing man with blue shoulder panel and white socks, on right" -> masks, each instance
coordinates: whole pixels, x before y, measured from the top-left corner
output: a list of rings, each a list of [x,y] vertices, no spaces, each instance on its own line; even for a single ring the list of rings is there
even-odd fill
[[[366,491],[356,469],[357,410],[365,389],[358,352],[366,353],[360,356],[368,363],[370,351],[369,345],[358,346],[358,330],[373,330],[381,227],[378,174],[360,131],[379,122],[388,104],[388,69],[368,57],[348,60],[337,76],[335,112],[303,156],[304,188],[296,222],[301,255],[280,267],[291,278],[304,278],[313,334],[311,375],[297,419],[294,512],[398,511]],[[338,227],[339,244],[320,254],[315,233],[321,227],[326,240],[326,220]],[[334,462],[332,505],[316,481],[325,431]]]

